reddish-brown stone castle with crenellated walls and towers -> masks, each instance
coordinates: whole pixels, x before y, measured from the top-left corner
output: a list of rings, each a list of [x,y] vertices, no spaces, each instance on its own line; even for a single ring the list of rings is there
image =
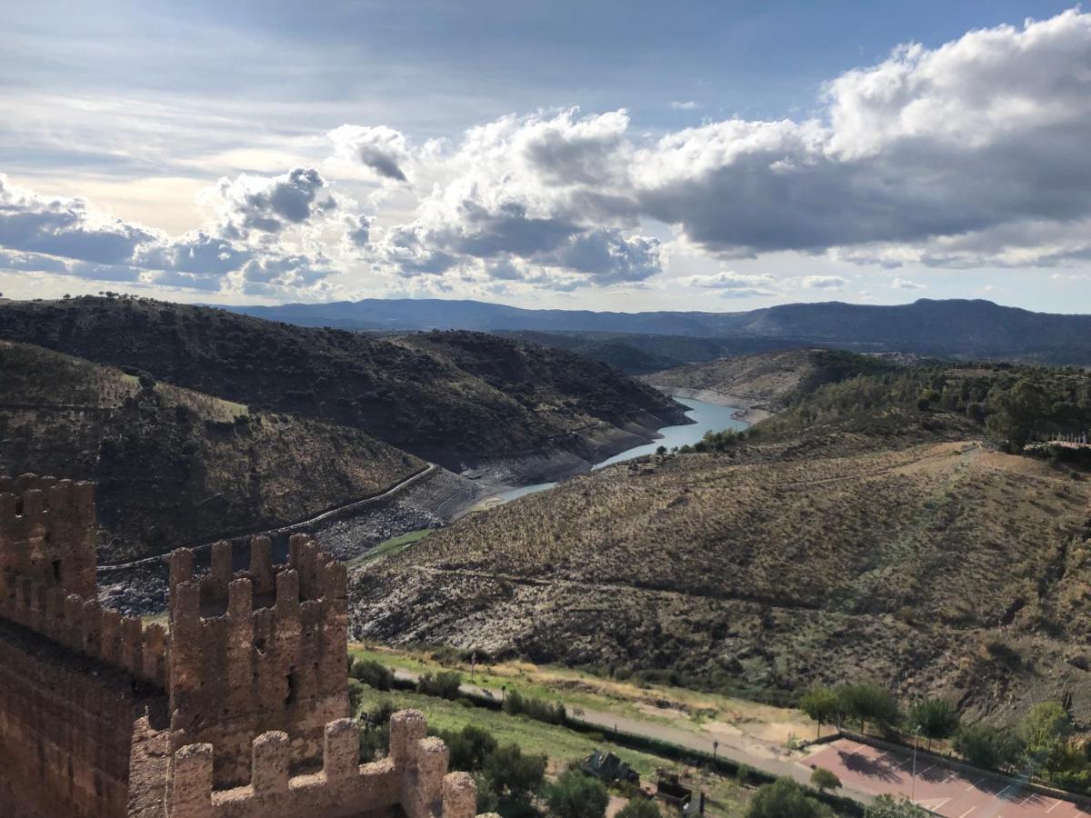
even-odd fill
[[[359,762],[346,569],[255,538],[199,576],[169,557],[169,630],[103,609],[94,489],[0,478],[0,818],[471,818],[423,715]]]

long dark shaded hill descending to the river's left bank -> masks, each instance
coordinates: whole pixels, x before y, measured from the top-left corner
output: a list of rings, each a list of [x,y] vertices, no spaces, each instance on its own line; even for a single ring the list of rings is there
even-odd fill
[[[573,470],[682,417],[602,363],[479,333],[377,338],[212,308],[77,298],[0,303],[0,337],[358,429],[454,471],[527,458],[543,474]]]

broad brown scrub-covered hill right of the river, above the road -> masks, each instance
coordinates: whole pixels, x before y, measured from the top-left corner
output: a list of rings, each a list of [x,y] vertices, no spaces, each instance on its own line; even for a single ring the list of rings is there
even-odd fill
[[[774,700],[875,679],[1000,721],[1070,693],[1091,720],[1091,481],[986,442],[1035,376],[1091,420],[1072,371],[828,384],[719,450],[580,476],[368,566],[355,633]]]

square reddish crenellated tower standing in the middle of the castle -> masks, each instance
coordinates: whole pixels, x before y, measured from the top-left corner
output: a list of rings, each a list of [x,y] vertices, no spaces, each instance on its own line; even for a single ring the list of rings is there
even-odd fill
[[[255,538],[250,568],[231,566],[226,542],[201,578],[192,552],[170,555],[171,729],[216,746],[217,785],[250,775],[242,736],[283,726],[298,763],[317,758],[325,723],[348,712],[344,564],[296,536],[285,565]]]

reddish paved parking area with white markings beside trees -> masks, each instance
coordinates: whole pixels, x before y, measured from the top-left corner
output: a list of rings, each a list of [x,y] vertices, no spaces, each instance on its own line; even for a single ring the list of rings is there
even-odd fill
[[[849,738],[839,738],[816,750],[806,762],[825,767],[854,790],[882,795],[911,794],[922,807],[945,818],[1077,818],[1091,808],[1039,795],[991,775],[972,775],[936,761],[916,757],[913,784],[912,751],[887,751]]]

